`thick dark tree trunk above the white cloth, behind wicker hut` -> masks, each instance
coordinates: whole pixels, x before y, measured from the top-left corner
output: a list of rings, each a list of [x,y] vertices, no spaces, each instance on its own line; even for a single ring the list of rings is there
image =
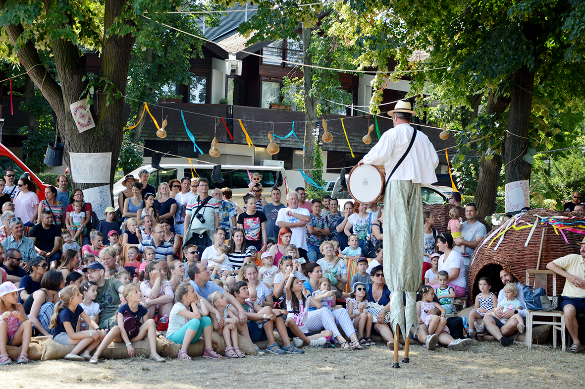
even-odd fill
[[[514,72],[510,92],[510,113],[504,141],[504,169],[506,183],[529,180],[532,165],[522,157],[528,151],[528,126],[532,111],[534,71],[523,66]]]

